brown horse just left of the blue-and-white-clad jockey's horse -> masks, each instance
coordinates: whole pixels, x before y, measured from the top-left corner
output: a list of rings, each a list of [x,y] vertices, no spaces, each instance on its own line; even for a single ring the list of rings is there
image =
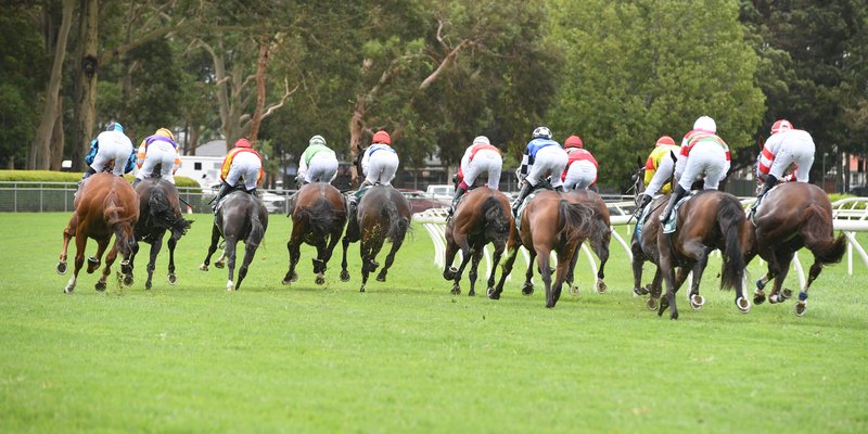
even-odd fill
[[[485,252],[485,245],[494,244],[494,259],[492,272],[488,276],[488,289],[495,285],[495,272],[500,257],[509,241],[510,228],[515,225],[510,213],[510,203],[507,196],[488,187],[478,187],[469,191],[456,207],[455,215],[446,222],[446,260],[443,268],[443,278],[455,280],[451,293],[461,294],[461,275],[468,261],[471,261],[469,296],[476,295],[476,277],[480,260]],[[458,251],[461,251],[461,265],[456,269],[451,267]]]

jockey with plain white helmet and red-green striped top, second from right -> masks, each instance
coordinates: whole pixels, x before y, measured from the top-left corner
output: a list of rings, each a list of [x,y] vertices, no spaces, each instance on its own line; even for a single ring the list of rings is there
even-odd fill
[[[681,141],[681,154],[675,164],[675,179],[678,184],[669,197],[669,203],[660,221],[669,219],[675,204],[690,190],[700,175],[705,175],[705,190],[716,190],[729,170],[729,146],[717,137],[717,124],[709,116],[701,116],[693,123],[693,129]]]

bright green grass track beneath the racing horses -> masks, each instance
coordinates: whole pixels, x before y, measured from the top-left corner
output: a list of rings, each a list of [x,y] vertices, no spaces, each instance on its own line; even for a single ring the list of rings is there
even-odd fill
[[[350,282],[337,279],[339,245],[327,284],[315,285],[305,246],[301,279],[284,286],[280,215],[241,291],[228,293],[225,270],[197,269],[212,217],[192,217],[177,285],[164,253],[144,291],[145,245],[131,288],[111,280],[97,293],[97,275],[82,271],[65,295],[68,275],[54,266],[68,215],[0,214],[0,432],[868,431],[858,259],[853,277],[828,267],[797,318],[792,302],[739,314],[717,290],[715,258],[705,307],[679,297],[671,321],[633,296],[614,241],[609,293],[589,291],[583,256],[583,294],[554,309],[539,284],[520,294],[521,272],[500,301],[451,296],[421,227],[388,282],[371,279],[367,293],[358,245]],[[758,277],[758,261],[749,271]],[[797,286],[794,273],[788,283]]]

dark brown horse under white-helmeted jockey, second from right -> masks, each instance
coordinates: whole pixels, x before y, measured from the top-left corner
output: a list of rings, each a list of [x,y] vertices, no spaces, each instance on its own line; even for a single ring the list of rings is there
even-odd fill
[[[649,205],[652,206],[652,205]],[[744,209],[738,197],[717,190],[704,190],[685,202],[678,209],[677,230],[673,233],[658,231],[660,271],[666,282],[666,297],[662,299],[658,315],[671,308],[669,318],[678,319],[675,293],[678,282],[675,268],[690,268],[693,280],[690,288],[690,304],[694,309],[704,304],[699,295],[699,283],[709,261],[709,254],[719,248],[724,255],[720,273],[722,289],[736,289],[736,306],[742,312],[751,310],[744,298]]]

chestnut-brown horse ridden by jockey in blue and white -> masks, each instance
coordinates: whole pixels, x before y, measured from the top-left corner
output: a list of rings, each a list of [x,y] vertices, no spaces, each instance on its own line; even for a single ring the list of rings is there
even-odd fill
[[[590,237],[593,228],[591,216],[593,209],[588,205],[572,202],[560,192],[545,190],[527,203],[521,215],[521,230],[512,227],[503,271],[497,288],[488,291],[488,298],[498,299],[503,291],[503,282],[512,271],[512,265],[519,247],[524,245],[531,252],[531,261],[537,260],[537,267],[546,286],[546,307],[552,308],[561,297],[561,289],[566,280],[573,256],[579,243]],[[551,282],[552,269],[549,267],[549,255],[554,251],[558,255],[558,268],[554,284]],[[522,294],[534,293],[533,267],[527,268]]]

